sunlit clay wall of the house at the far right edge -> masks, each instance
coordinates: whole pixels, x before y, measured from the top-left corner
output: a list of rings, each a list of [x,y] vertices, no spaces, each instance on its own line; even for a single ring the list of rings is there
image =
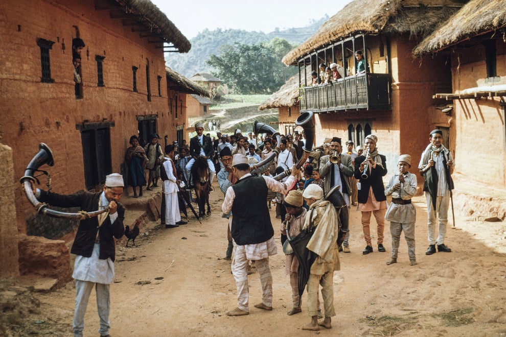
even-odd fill
[[[506,74],[506,44],[497,39],[497,74]],[[458,61],[460,60],[460,64]],[[485,49],[477,45],[452,55],[453,92],[505,85],[506,77],[487,79]],[[459,66],[457,66],[459,65]],[[500,98],[454,100],[455,171],[471,181],[506,186],[506,132]],[[480,163],[479,166],[476,163]]]

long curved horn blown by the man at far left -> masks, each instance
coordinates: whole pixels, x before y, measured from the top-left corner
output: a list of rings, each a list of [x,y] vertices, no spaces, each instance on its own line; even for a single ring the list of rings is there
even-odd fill
[[[27,195],[28,201],[32,203],[37,213],[52,216],[53,218],[84,220],[93,218],[94,216],[97,216],[109,210],[108,207],[105,207],[104,209],[94,212],[79,211],[78,213],[66,213],[51,209],[48,207],[48,204],[38,201],[33,194],[32,183],[36,181],[34,177],[35,171],[38,171],[38,168],[44,164],[48,164],[49,166],[54,165],[53,152],[47,145],[40,143],[39,152],[32,158],[32,160],[30,160],[30,163],[28,163],[28,166],[25,170],[25,176],[19,180],[25,189],[25,194]]]

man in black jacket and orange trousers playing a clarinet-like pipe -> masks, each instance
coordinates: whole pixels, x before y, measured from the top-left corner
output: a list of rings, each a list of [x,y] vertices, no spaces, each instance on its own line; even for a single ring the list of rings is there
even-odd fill
[[[362,212],[362,230],[364,232],[365,249],[363,255],[373,252],[371,243],[371,214],[378,225],[378,251],[385,252],[383,247],[383,230],[385,228],[386,197],[383,177],[386,175],[386,157],[378,153],[376,135],[365,137],[365,156],[355,158],[355,178],[359,180],[358,210]]]

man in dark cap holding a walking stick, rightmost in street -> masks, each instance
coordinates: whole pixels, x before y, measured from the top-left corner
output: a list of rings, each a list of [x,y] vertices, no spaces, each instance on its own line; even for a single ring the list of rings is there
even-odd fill
[[[436,252],[451,252],[445,245],[446,225],[448,223],[448,206],[452,197],[453,189],[453,157],[443,145],[443,132],[439,129],[432,130],[429,138],[430,144],[422,153],[420,159],[420,174],[424,176],[423,190],[427,198],[427,231],[429,248],[426,255]],[[453,200],[452,212],[453,212]],[[438,238],[435,238],[436,216],[439,219]],[[453,221],[455,223],[455,220]]]

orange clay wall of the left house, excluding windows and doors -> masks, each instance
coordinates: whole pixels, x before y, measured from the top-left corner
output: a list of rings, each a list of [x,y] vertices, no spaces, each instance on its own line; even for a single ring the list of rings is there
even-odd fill
[[[86,43],[82,53],[83,99],[77,100],[72,73],[72,38],[79,28]],[[109,11],[96,11],[93,1],[15,2],[0,5],[0,133],[14,153],[15,183],[37,152],[39,142],[53,150],[50,169],[53,190],[70,193],[84,188],[81,134],[76,124],[114,122],[111,132],[113,172],[120,171],[128,139],[137,134],[137,115],[157,115],[158,130],[169,130],[167,91],[158,97],[157,76],[167,87],[162,50],[148,38],[132,33]],[[41,83],[40,49],[36,39],[54,41],[50,51],[54,83]],[[105,57],[104,87],[97,86],[95,56]],[[149,64],[151,102],[147,100]],[[132,66],[137,70],[133,92]],[[171,137],[175,135],[170,134]],[[47,168],[47,167],[46,167]],[[20,188],[16,189],[18,228],[33,214]]]

